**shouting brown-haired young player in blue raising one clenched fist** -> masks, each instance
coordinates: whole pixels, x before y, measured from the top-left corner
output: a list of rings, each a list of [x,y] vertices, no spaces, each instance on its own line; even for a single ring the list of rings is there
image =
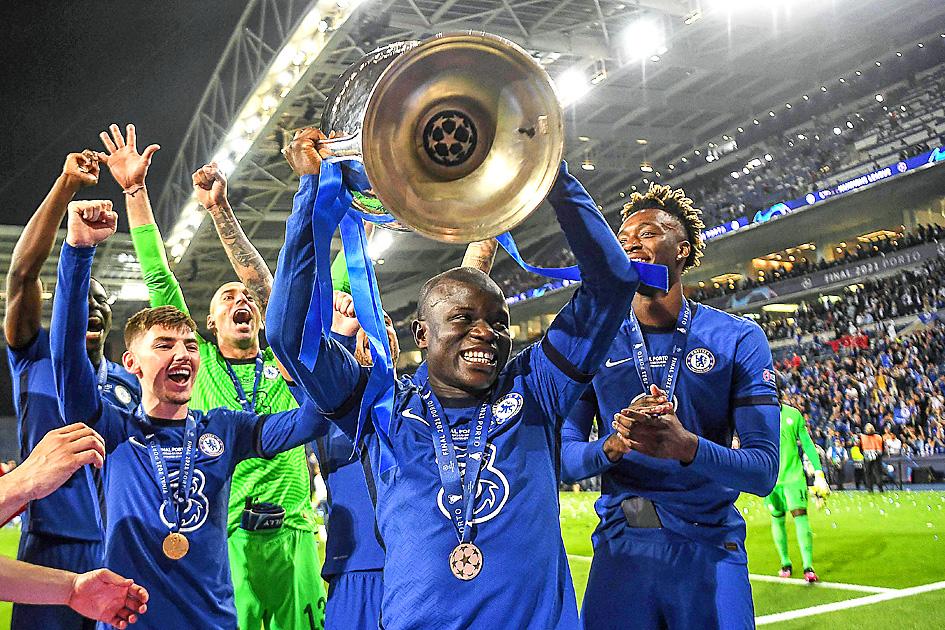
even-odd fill
[[[150,615],[139,626],[233,629],[226,552],[233,471],[324,435],[328,421],[308,399],[268,415],[190,409],[202,357],[193,320],[173,306],[140,311],[125,327],[122,362],[141,383],[141,404],[129,411],[98,393],[82,356],[85,296],[95,246],[116,224],[107,202],[70,206],[50,327],[60,412],[104,438],[105,566],[148,588]]]

